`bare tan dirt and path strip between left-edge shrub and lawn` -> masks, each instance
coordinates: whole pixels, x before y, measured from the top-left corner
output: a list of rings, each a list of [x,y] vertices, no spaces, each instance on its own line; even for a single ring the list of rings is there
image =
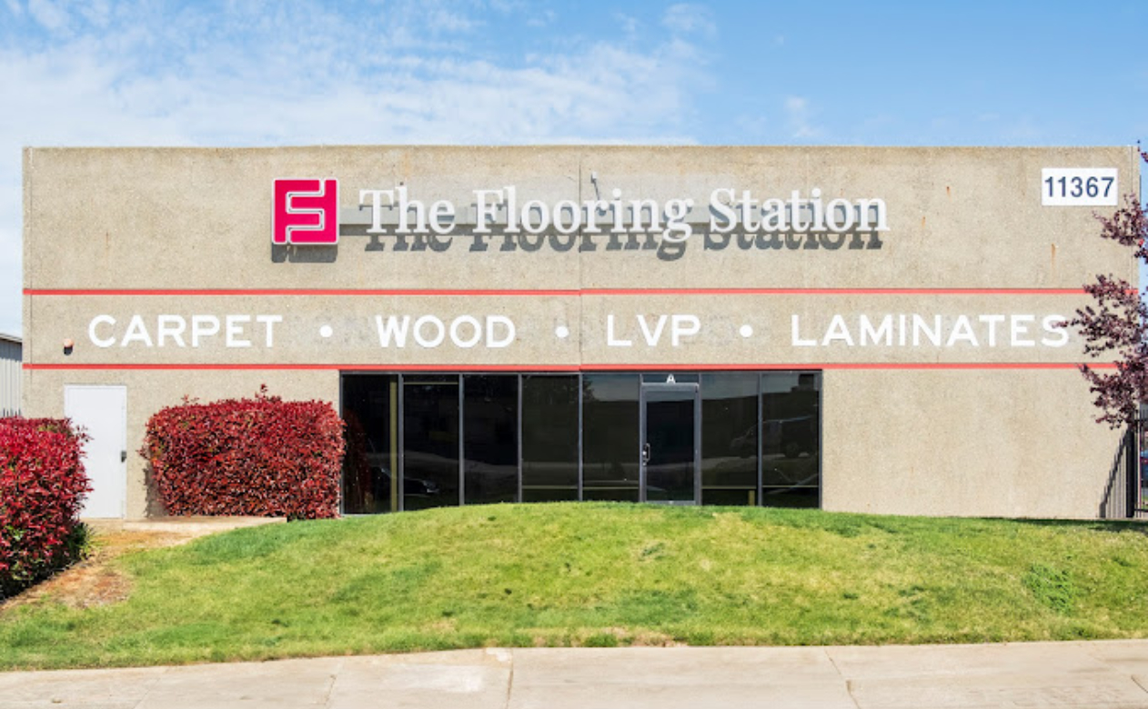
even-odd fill
[[[92,608],[116,603],[131,593],[131,578],[111,563],[118,556],[140,550],[176,546],[208,533],[201,530],[138,531],[115,524],[91,524],[92,553],[87,559],[0,603],[0,614],[10,608],[39,602],[62,603],[70,608]]]

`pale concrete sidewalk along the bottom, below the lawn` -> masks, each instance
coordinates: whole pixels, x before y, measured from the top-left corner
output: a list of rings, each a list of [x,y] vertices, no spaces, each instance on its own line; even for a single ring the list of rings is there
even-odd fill
[[[0,707],[1148,708],[1148,640],[479,649],[0,673]]]

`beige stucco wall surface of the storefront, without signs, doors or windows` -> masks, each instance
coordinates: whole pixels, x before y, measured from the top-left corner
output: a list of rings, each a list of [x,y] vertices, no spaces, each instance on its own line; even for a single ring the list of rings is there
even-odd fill
[[[1096,236],[1094,212],[1111,208],[1041,207],[1040,174],[1116,167],[1120,192],[1135,192],[1131,148],[30,149],[24,166],[24,286],[32,293],[24,299],[32,366],[24,410],[61,414],[68,383],[126,384],[132,447],[147,416],[184,395],[249,395],[266,383],[285,397],[336,402],[340,367],[356,365],[793,365],[824,368],[828,509],[1089,517],[1104,494],[1118,435],[1093,422],[1086,385],[1069,366],[1081,357],[1079,341],[1042,324],[1086,303],[1069,289],[1095,273],[1134,281],[1134,263]],[[502,235],[478,239],[458,227],[443,251],[396,251],[394,235],[370,236],[359,226],[346,228],[338,247],[273,248],[277,177],[336,177],[344,209],[356,207],[359,189],[401,182],[411,197],[458,205],[473,202],[475,189],[506,185],[520,203],[608,198],[619,188],[626,200],[691,197],[699,205],[719,187],[758,198],[816,187],[827,200],[884,200],[890,229],[879,239],[791,237],[781,248],[695,233],[684,246],[618,249],[599,234],[584,250],[584,234],[507,249]],[[168,293],[124,293],[133,289]],[[385,293],[364,293],[372,289]],[[410,289],[545,293],[395,293]],[[196,314],[250,318],[236,320],[235,337],[250,344],[228,348],[217,335],[192,348],[185,333],[183,346],[173,337],[160,346],[160,315],[189,324]],[[425,314],[448,324],[510,318],[515,337],[499,348],[381,346],[377,315]],[[675,314],[699,324],[676,345]],[[856,342],[862,317],[914,314],[930,326],[940,317],[939,344]],[[93,328],[98,315],[107,318]],[[139,337],[122,344],[134,315],[152,346]],[[258,315],[281,318],[270,346]],[[652,327],[660,315],[666,329],[647,344],[642,322]],[[852,345],[825,337],[835,315]],[[992,343],[983,317],[1006,318]],[[949,337],[962,320],[975,342]],[[331,336],[320,334],[324,326]],[[558,327],[571,334],[559,337]],[[76,342],[69,354],[64,338]],[[320,368],[257,368],[300,364]],[[970,368],[921,368],[951,364]],[[256,368],[142,368],[216,365]],[[138,516],[146,486],[141,461],[130,460],[129,514]]]

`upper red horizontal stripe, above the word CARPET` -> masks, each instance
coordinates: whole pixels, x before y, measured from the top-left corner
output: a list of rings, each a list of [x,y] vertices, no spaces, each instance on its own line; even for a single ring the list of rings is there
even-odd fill
[[[28,296],[1081,295],[1083,288],[25,288]]]

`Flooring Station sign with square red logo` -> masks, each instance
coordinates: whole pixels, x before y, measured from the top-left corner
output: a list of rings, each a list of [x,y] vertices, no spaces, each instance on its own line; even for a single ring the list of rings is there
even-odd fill
[[[339,184],[335,179],[280,179],[274,185],[272,243],[323,246],[338,243]],[[357,212],[357,213],[356,213]],[[693,198],[628,197],[619,188],[608,198],[544,200],[519,195],[514,185],[473,190],[473,201],[427,202],[410,196],[406,185],[390,189],[359,189],[358,207],[342,221],[365,224],[369,235],[422,236],[432,250],[444,250],[448,237],[465,229],[471,235],[553,233],[654,235],[669,243],[688,240],[696,227],[711,234],[847,234],[889,231],[882,198],[828,198],[820,188],[794,189],[782,198],[761,197],[748,189],[719,187],[704,211]]]

